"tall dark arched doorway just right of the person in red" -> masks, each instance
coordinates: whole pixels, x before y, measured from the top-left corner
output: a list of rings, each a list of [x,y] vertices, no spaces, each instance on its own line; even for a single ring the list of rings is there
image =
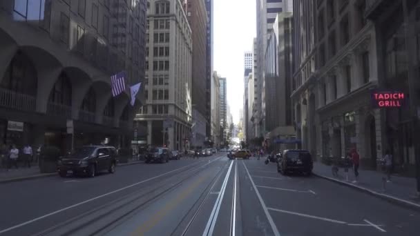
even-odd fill
[[[365,140],[364,140],[364,149],[365,149],[365,157],[367,157],[367,159],[369,160],[369,164],[370,166],[366,166],[366,167],[370,167],[370,168],[376,168],[376,158],[377,158],[377,150],[376,150],[376,146],[377,141],[376,141],[376,126],[378,124],[376,124],[376,120],[374,115],[372,115],[371,113],[368,113],[365,117],[365,122],[364,122],[364,130],[365,130]]]

